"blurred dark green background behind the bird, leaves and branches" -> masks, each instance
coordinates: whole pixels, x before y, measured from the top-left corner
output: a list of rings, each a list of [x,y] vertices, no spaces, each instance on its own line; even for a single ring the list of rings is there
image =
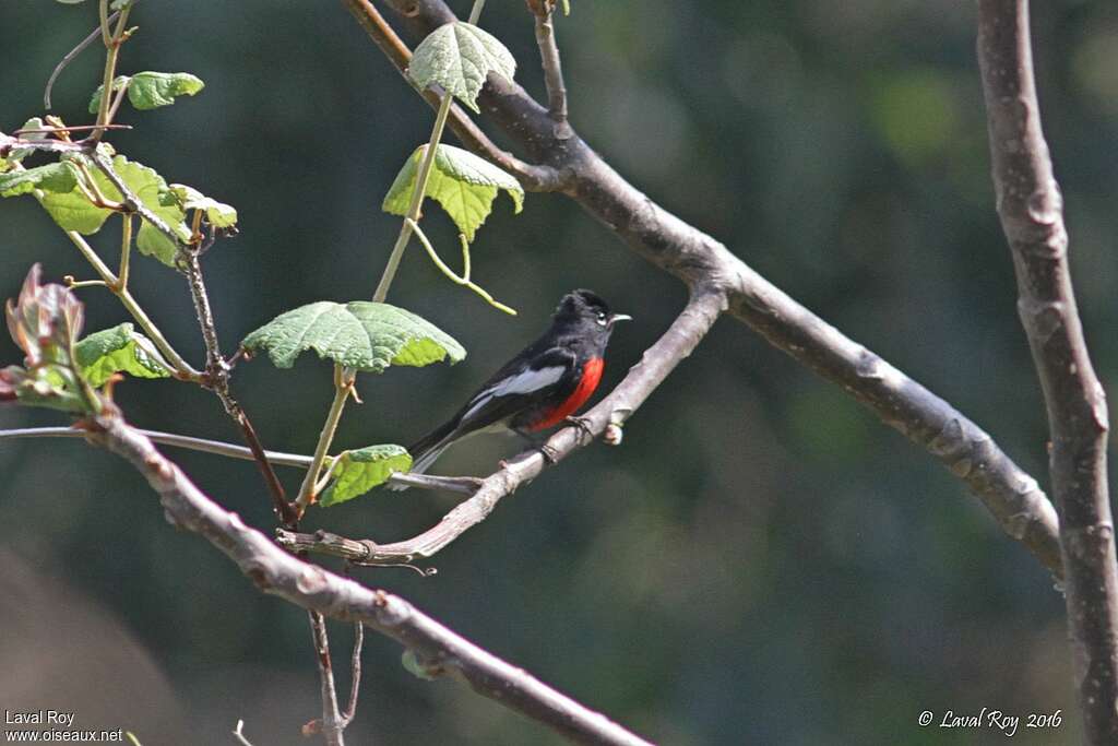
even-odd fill
[[[987,428],[1046,484],[1045,419],[994,213],[974,60],[974,3],[942,0],[575,0],[558,20],[570,111],[625,176],[724,240],[794,298]],[[467,3],[456,10],[465,13]],[[0,0],[0,130],[41,113],[55,63],[95,25],[93,3]],[[120,120],[112,142],[170,181],[234,204],[241,234],[205,262],[227,350],[281,311],[368,298],[399,221],[380,200],[432,112],[339,3],[139,6],[123,73],[189,70],[196,98]],[[394,21],[396,19],[394,18]],[[1118,371],[1118,7],[1038,3],[1044,125],[1067,201],[1077,294],[1103,383]],[[541,94],[530,18],[491,0],[482,23]],[[411,39],[413,44],[415,39]],[[86,122],[102,57],[55,88]],[[453,139],[452,139],[453,142]],[[425,226],[453,249],[449,221]],[[28,198],[0,205],[0,290],[28,266],[85,277]],[[111,236],[96,245],[115,255]],[[453,251],[449,251],[453,255]],[[670,323],[683,289],[571,201],[505,198],[474,249],[475,278],[520,310],[495,313],[413,246],[391,301],[457,337],[454,368],[363,376],[340,446],[408,443],[438,424],[588,286],[636,322],[616,336],[617,383]],[[138,259],[133,287],[174,344],[201,346],[184,283]],[[89,330],[125,320],[83,292]],[[2,360],[18,360],[2,343]],[[309,453],[330,369],[237,368],[235,389],[268,447]],[[217,400],[129,380],[136,425],[236,441]],[[59,424],[7,408],[0,426]],[[515,446],[473,441],[439,473],[487,473]],[[224,506],[269,530],[252,464],[168,451]],[[145,746],[304,743],[318,716],[305,614],[258,594],[208,544],[167,525],[122,461],[73,441],[0,446],[0,707],[77,710]],[[284,471],[297,487],[300,474]],[[451,507],[376,492],[309,527],[396,540]],[[500,504],[438,555],[433,578],[359,570],[494,653],[670,744],[983,744],[988,730],[917,726],[922,710],[1062,709],[1079,725],[1063,604],[1040,566],[923,452],[736,322],[631,421]],[[333,627],[344,669],[350,631]],[[413,678],[368,635],[351,743],[547,744],[542,727],[452,681]],[[345,688],[345,676],[341,686]]]

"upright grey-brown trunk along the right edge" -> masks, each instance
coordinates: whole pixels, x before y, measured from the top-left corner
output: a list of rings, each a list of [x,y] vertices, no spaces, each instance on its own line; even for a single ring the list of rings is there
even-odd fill
[[[1041,128],[1027,0],[979,0],[978,62],[997,211],[1017,311],[1048,407],[1068,624],[1086,743],[1118,743],[1118,567],[1107,487],[1106,394],[1083,339],[1063,200]]]

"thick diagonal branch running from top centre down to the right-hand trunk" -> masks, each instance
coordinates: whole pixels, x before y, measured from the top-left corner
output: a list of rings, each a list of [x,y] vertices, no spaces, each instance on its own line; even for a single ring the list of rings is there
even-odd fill
[[[348,6],[352,2],[358,0],[347,0]],[[409,19],[418,34],[455,19],[442,0],[386,2]],[[519,85],[491,76],[480,103],[529,158],[565,174],[563,193],[633,251],[689,286],[720,287],[732,315],[842,386],[885,424],[939,459],[964,480],[1006,533],[1024,544],[1053,575],[1061,575],[1055,511],[1036,481],[987,433],[798,304],[724,245],[656,205],[601,160],[577,132],[557,138],[547,110]],[[477,152],[489,155],[485,150]]]

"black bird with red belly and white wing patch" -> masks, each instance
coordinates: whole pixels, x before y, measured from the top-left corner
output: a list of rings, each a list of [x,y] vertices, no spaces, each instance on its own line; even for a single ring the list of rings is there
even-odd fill
[[[614,324],[631,319],[612,313],[588,290],[565,295],[542,337],[485,381],[449,422],[408,448],[411,473],[424,473],[449,445],[470,435],[506,429],[533,440],[533,433],[563,422],[598,387]]]

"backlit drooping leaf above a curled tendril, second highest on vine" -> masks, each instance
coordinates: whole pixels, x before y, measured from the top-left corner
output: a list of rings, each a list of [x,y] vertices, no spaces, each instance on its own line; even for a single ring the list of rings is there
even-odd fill
[[[407,215],[426,149],[427,145],[416,149],[396,174],[381,206],[386,213]],[[473,242],[477,228],[493,211],[493,200],[500,189],[512,199],[513,211],[520,213],[524,207],[524,189],[514,176],[470,151],[440,144],[435,151],[425,196],[437,200],[466,240]]]

